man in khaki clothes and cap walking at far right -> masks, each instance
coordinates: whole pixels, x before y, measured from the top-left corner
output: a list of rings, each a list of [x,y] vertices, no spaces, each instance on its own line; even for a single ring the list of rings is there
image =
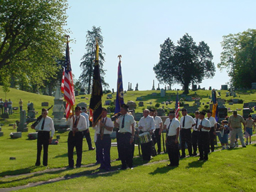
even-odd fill
[[[228,126],[230,127],[230,131],[231,131],[230,149],[234,148],[233,145],[234,145],[234,142],[235,142],[235,135],[236,134],[238,134],[238,137],[240,139],[242,147],[246,147],[244,139],[243,139],[241,123],[244,126],[244,132],[245,132],[245,120],[242,118],[242,116],[240,114],[238,114],[237,111],[233,111],[233,115],[231,115],[228,118]]]

